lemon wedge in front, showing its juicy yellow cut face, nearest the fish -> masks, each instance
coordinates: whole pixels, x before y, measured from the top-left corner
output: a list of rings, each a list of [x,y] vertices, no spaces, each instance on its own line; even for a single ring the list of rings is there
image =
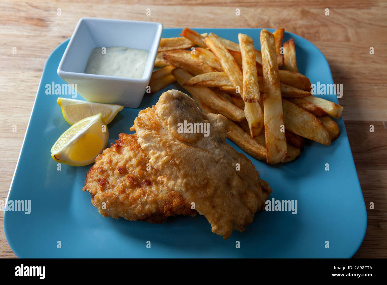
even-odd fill
[[[99,113],[68,128],[51,148],[51,157],[71,166],[88,165],[106,148],[108,138],[108,128]]]

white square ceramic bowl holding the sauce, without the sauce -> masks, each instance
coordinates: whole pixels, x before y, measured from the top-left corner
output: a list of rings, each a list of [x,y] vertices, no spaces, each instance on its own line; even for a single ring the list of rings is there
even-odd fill
[[[58,75],[77,84],[85,100],[139,107],[151,79],[163,24],[156,22],[81,18],[58,66]],[[84,73],[87,60],[97,47],[128,47],[147,50],[149,57],[140,79]]]

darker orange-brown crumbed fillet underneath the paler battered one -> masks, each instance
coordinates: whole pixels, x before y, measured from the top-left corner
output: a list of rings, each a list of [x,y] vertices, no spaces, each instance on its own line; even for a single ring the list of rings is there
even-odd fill
[[[195,216],[191,205],[170,191],[165,176],[148,162],[137,137],[120,133],[115,144],[96,157],[82,190],[92,195],[91,203],[105,217],[163,223],[169,216]]]

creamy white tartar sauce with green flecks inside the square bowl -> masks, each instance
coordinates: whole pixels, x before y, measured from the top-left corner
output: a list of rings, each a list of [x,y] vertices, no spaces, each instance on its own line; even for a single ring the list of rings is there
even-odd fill
[[[94,48],[85,73],[118,76],[127,78],[142,78],[149,56],[147,50],[127,47]]]

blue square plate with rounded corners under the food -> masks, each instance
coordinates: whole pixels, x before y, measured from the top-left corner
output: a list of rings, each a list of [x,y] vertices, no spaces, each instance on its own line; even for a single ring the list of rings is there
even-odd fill
[[[178,36],[181,30],[164,29],[163,37]],[[212,31],[236,42],[238,33],[245,33],[260,49],[260,29],[195,30]],[[295,39],[300,73],[312,83],[332,84],[324,55],[309,41],[285,33],[284,41],[290,38]],[[335,119],[341,133],[337,140],[330,146],[307,142],[295,161],[270,166],[246,154],[270,183],[270,200],[297,200],[297,214],[257,213],[243,233],[234,231],[228,240],[212,233],[200,215],[169,218],[161,225],[101,216],[92,206],[90,194],[82,191],[91,166],[62,164],[58,171],[50,156],[51,146],[70,126],[63,119],[57,97],[71,95],[47,95],[45,86],[52,81],[65,83],[57,68],[67,43],[60,44],[46,62],[7,197],[7,201],[31,201],[29,214],[4,212],[5,236],[18,257],[351,257],[360,247],[366,231],[366,208],[342,119]],[[118,113],[108,126],[109,143],[121,132],[132,133],[129,128],[138,112],[156,104],[159,95],[172,88],[184,91],[171,85],[145,95],[138,109],[124,108]],[[335,95],[321,97],[337,103]]]

